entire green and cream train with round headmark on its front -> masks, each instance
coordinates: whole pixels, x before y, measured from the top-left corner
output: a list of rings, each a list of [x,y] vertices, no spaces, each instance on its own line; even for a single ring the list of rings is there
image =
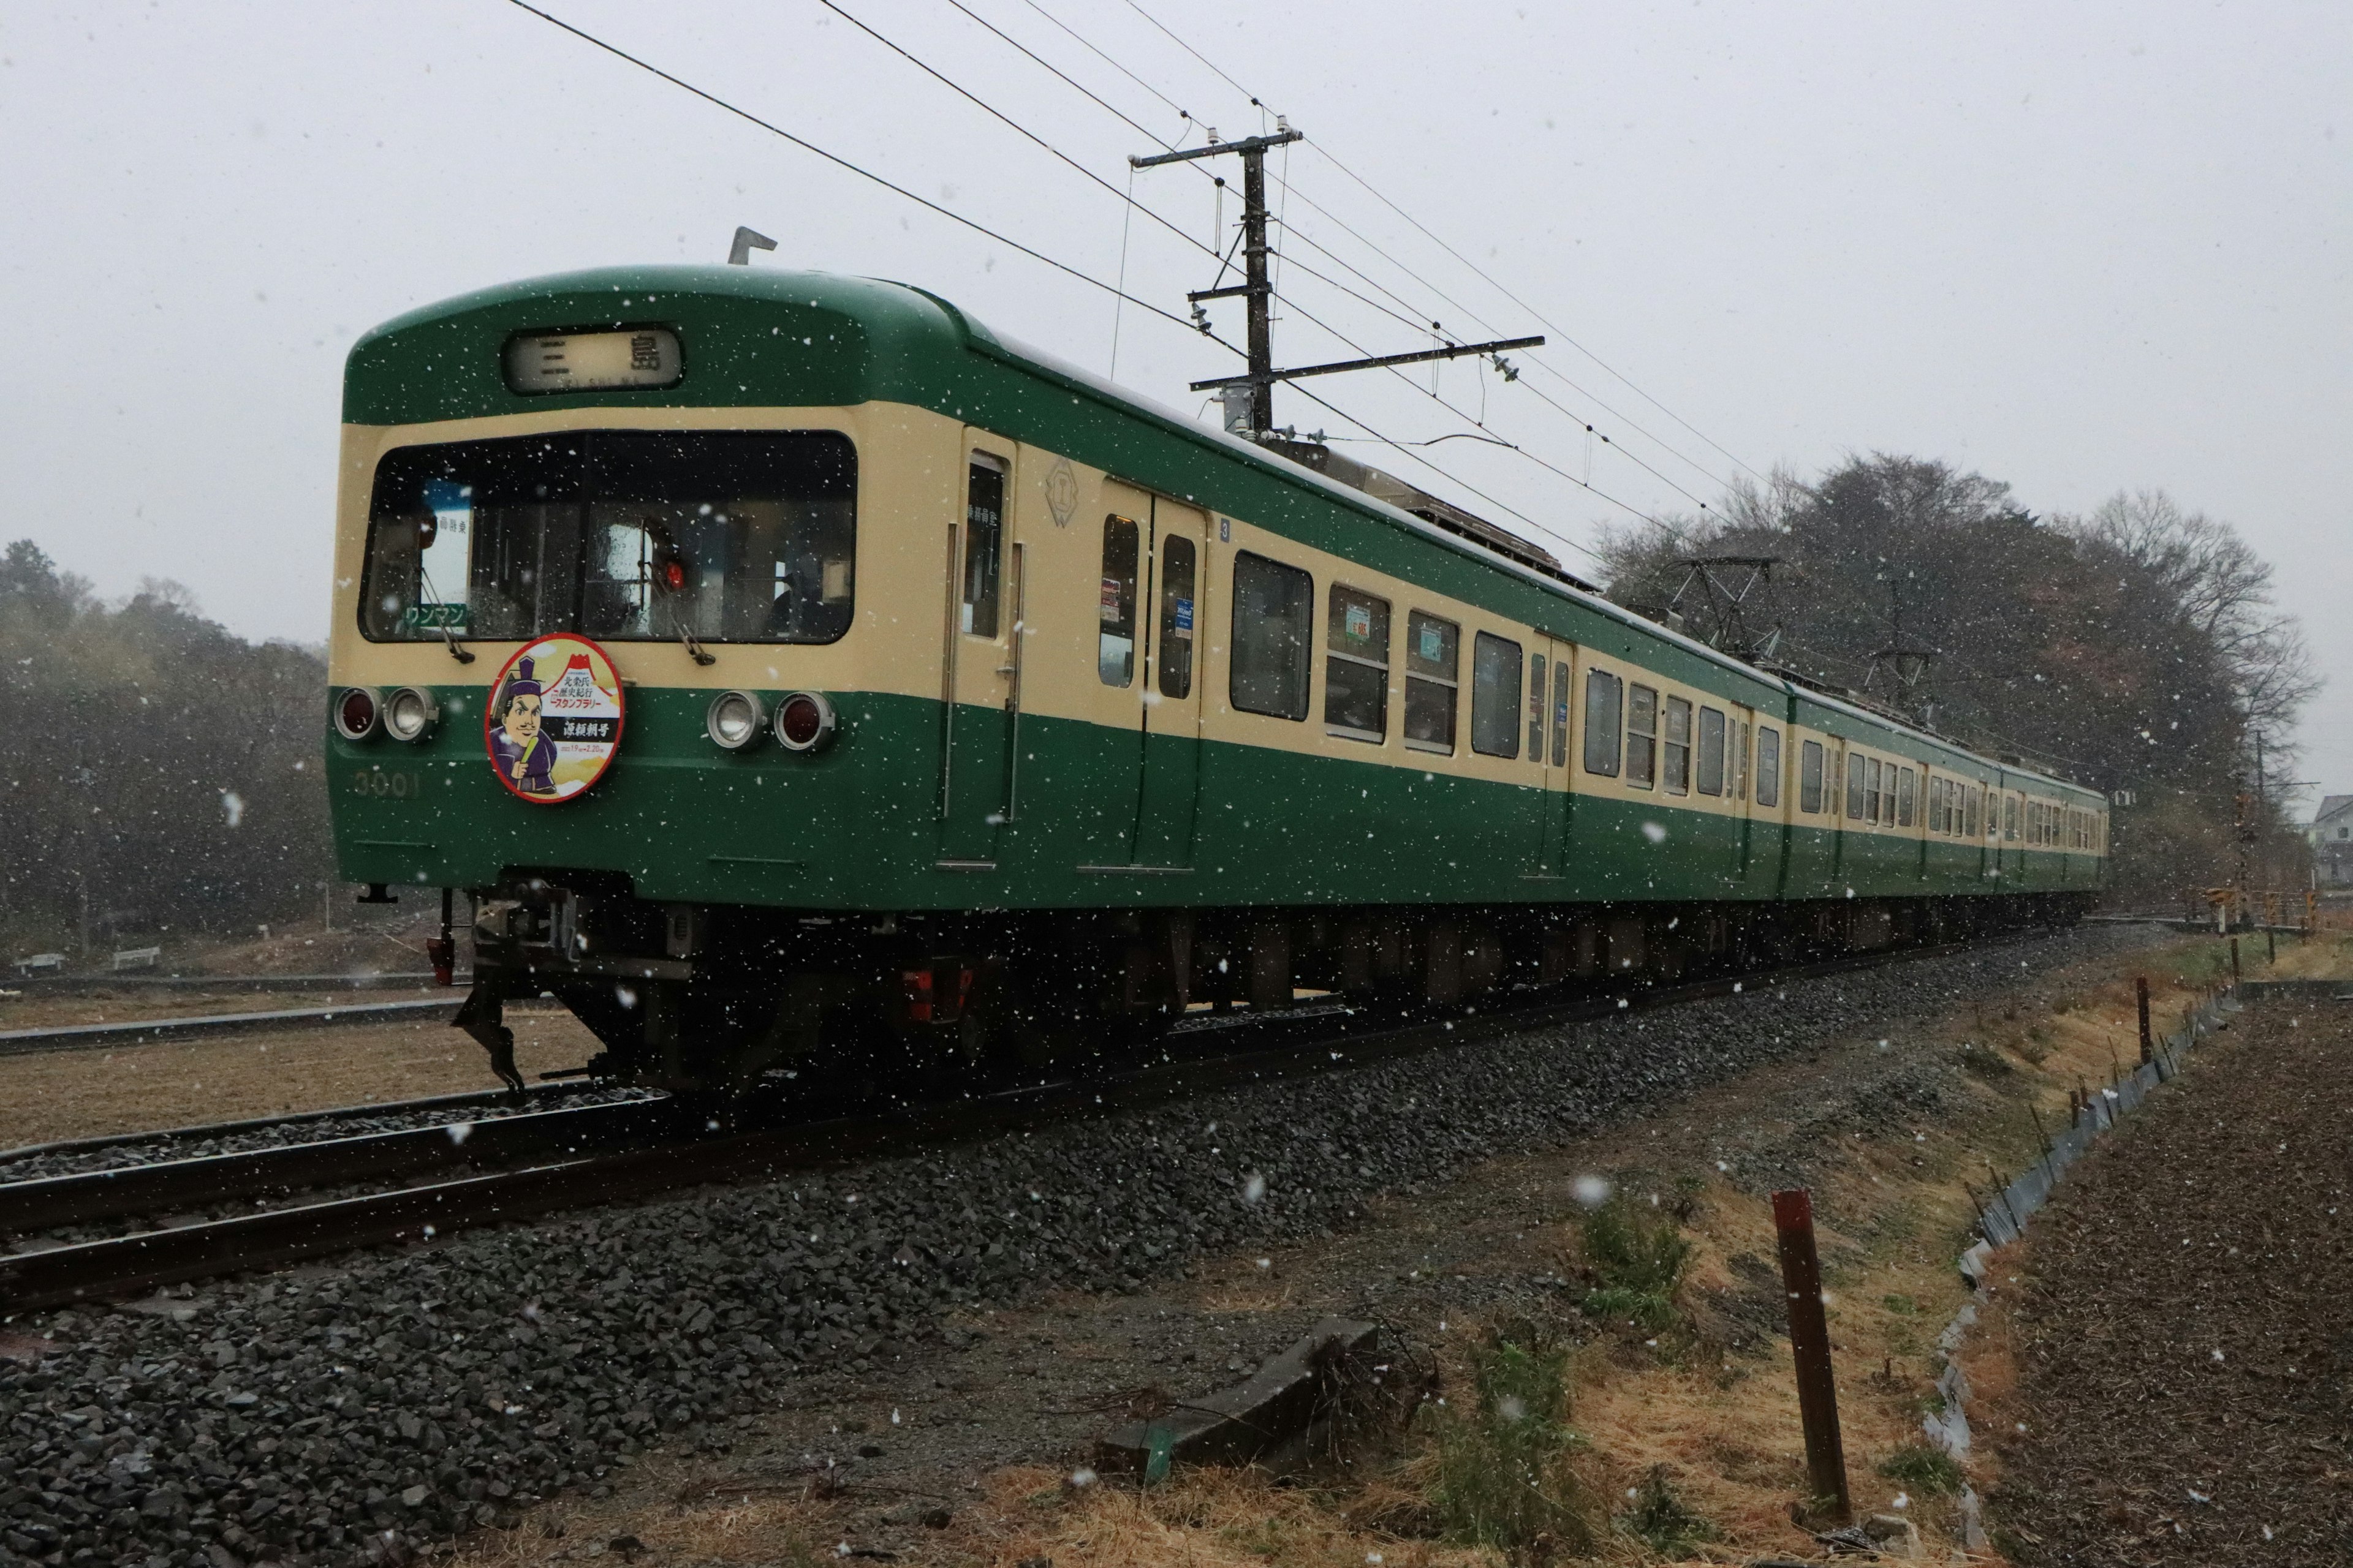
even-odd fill
[[[904,284],[626,268],[416,310],[351,353],[339,494],[341,870],[464,893],[461,1025],[506,1074],[499,1009],[541,990],[600,1072],[727,1091],[2101,886],[2097,792]]]

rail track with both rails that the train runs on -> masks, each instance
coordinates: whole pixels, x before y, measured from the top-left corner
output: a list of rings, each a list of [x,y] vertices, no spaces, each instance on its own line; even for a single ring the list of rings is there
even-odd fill
[[[1751,985],[2005,947],[2038,936],[2045,931],[1824,959],[1624,994],[1454,1009],[1447,1016],[1402,1018],[1308,1004],[1268,1016],[1195,1018],[1179,1025],[1160,1060],[1141,1067],[932,1103],[885,1103],[847,1114],[805,1110],[795,1117],[791,1110],[772,1110],[769,1117],[776,1117],[772,1124],[741,1131],[696,1121],[699,1112],[689,1114],[673,1100],[631,1100],[0,1182],[0,1234],[33,1244],[31,1251],[0,1255],[0,1314],[87,1298],[122,1298],[369,1246],[433,1241],[459,1229],[562,1208],[649,1199],[701,1185],[755,1182],[788,1171],[1134,1110],[1275,1077],[1360,1067],[1497,1034],[1727,997]],[[369,1107],[369,1114],[388,1110],[398,1107]],[[186,1133],[202,1135],[207,1128]],[[94,1140],[92,1147],[104,1143],[108,1140]],[[376,1190],[40,1246],[56,1229],[75,1225],[186,1215],[249,1199],[369,1185]]]

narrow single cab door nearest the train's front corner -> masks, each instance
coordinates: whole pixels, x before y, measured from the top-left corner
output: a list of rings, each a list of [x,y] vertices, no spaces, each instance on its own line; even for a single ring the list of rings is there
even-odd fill
[[[991,870],[1012,806],[1016,722],[1014,442],[965,433],[965,517],[948,527],[941,668],[939,863]]]

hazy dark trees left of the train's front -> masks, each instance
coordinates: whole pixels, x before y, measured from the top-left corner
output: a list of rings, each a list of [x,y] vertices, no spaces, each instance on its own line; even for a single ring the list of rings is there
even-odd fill
[[[320,903],[327,661],[146,583],[0,552],[0,938],[19,957],[252,931]]]

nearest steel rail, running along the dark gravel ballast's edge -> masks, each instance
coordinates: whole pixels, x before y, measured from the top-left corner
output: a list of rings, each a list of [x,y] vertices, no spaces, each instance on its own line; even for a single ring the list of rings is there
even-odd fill
[[[1419,1056],[1435,1046],[1459,1046],[1497,1034],[1562,1027],[1729,997],[1751,985],[1852,973],[1913,959],[2007,947],[2049,936],[2049,929],[2002,933],[1972,943],[1899,947],[1812,964],[1718,976],[1689,985],[1640,987],[1624,994],[1539,1001],[1485,1013],[1457,1013],[1414,1023],[1372,1023],[1351,1034],[1353,1013],[1339,1030],[1313,1039],[1240,1053],[1165,1060],[1141,1070],[1002,1091],[986,1098],[918,1105],[887,1114],[838,1117],[793,1128],[734,1133],[689,1145],[591,1154],[520,1171],[473,1175],[398,1192],[273,1208],[231,1220],[85,1241],[0,1258],[0,1314],[56,1307],[87,1298],[118,1298],[191,1279],[238,1274],[304,1258],[325,1258],[369,1246],[431,1241],[459,1229],[527,1220],[562,1208],[649,1199],[701,1185],[755,1182],[786,1171],[833,1166],[847,1159],[908,1152],[953,1138],[984,1138],[1092,1114],[1113,1114],[1165,1100],[1245,1086],[1271,1077],[1315,1074],[1367,1063]],[[1334,1013],[1325,1011],[1318,1023]],[[1282,1023],[1280,1018],[1271,1023]],[[1346,1046],[1346,1048],[1337,1048]]]

